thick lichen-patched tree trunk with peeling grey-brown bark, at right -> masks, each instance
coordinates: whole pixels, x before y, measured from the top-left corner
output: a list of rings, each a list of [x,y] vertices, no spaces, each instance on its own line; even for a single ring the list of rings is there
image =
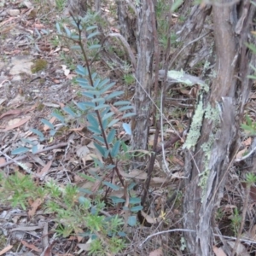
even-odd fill
[[[196,137],[195,147],[187,146],[185,152],[185,175],[189,178],[185,180],[183,225],[185,229],[195,230],[185,233],[189,253],[201,256],[213,255],[214,212],[237,151],[240,121],[249,91],[250,56],[244,43],[254,7],[249,0],[239,6],[220,2],[212,6],[216,75],[211,92],[202,93],[195,110],[201,114],[202,121],[194,128],[201,128],[201,135]],[[193,123],[195,119],[190,138]]]

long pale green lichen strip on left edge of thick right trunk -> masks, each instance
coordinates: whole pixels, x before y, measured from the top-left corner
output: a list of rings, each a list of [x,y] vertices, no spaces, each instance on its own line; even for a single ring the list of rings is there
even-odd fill
[[[201,125],[205,110],[203,108],[202,98],[198,102],[195,114],[190,125],[190,130],[183,148],[195,148],[195,145],[201,135]]]

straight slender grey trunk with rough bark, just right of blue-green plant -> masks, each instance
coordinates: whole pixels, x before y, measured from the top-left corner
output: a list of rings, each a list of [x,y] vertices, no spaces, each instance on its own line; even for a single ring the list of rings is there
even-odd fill
[[[148,148],[148,125],[150,113],[150,87],[152,85],[154,36],[152,22],[154,9],[152,0],[141,0],[137,5],[137,70],[136,70],[136,92],[134,105],[136,118],[132,125],[132,148]]]

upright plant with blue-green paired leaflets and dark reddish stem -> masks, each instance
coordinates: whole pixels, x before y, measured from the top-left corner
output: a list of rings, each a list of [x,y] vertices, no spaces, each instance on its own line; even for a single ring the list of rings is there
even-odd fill
[[[67,26],[61,27],[59,24],[56,25],[59,35],[65,38],[69,38],[75,43],[72,46],[72,49],[79,49],[82,52],[84,59],[84,66],[78,65],[75,72],[78,74],[76,81],[81,86],[83,92],[82,95],[86,98],[84,102],[77,102],[77,111],[73,111],[70,107],[62,108],[63,111],[68,113],[72,118],[78,119],[81,118],[82,113],[86,113],[86,119],[90,124],[87,128],[92,132],[92,137],[95,139],[95,147],[98,149],[100,154],[102,154],[103,159],[110,165],[105,166],[108,169],[111,169],[111,172],[119,177],[119,182],[124,186],[123,178],[119,174],[118,167],[115,164],[115,158],[119,154],[119,148],[121,141],[116,137],[116,130],[113,128],[113,125],[118,123],[122,119],[130,119],[135,115],[133,113],[133,106],[129,101],[119,101],[115,100],[118,96],[124,94],[124,91],[109,92],[115,85],[114,82],[111,82],[110,79],[101,79],[96,72],[91,71],[90,62],[88,60],[88,54],[85,52],[83,44],[82,32],[86,30],[87,33],[87,43],[90,44],[88,49],[100,49],[100,44],[91,44],[93,38],[99,34],[97,31],[97,26],[87,26],[90,24],[90,19],[85,16],[83,19],[75,20],[73,19],[73,26],[77,29],[78,33],[74,33]],[[65,30],[62,32],[62,30]],[[90,41],[91,40],[91,41]],[[114,113],[109,104],[110,101],[115,101],[113,106],[118,108],[119,113],[123,115],[119,118],[113,118]],[[63,125],[67,125],[67,122],[60,113],[52,113],[56,119],[59,119]],[[50,136],[55,135],[55,126],[52,125],[48,120],[41,119],[44,125],[49,126]],[[123,123],[123,127],[127,133],[131,134],[130,125]],[[40,141],[44,141],[45,137],[41,131],[37,129],[31,129],[32,132],[38,135]],[[37,145],[29,140],[26,140],[26,143],[32,144],[33,153],[37,152]],[[12,154],[23,154],[29,151],[30,148],[20,147],[12,151]],[[112,175],[113,177],[113,175]]]

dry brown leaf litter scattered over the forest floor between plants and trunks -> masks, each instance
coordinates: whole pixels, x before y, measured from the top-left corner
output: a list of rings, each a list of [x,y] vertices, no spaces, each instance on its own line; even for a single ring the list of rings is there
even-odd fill
[[[55,14],[49,15],[49,22],[44,24],[42,21],[44,20],[44,14],[40,13],[41,7],[39,4],[23,1],[24,6],[20,8],[20,1],[14,3],[7,0],[5,3],[3,9],[6,15],[1,16],[2,20],[0,20],[0,33],[6,37],[2,44],[3,55],[6,61],[0,59],[0,67],[3,70],[0,73],[0,150],[4,154],[8,154],[9,157],[22,161],[25,165],[29,166],[35,173],[33,181],[37,186],[44,186],[44,183],[50,183],[51,181],[57,182],[59,187],[62,184],[73,183],[77,184],[81,189],[89,189],[92,192],[90,197],[93,198],[95,196],[93,194],[96,194],[98,189],[102,187],[102,177],[104,177],[104,174],[102,174],[100,169],[96,170],[94,174],[87,172],[86,175],[96,178],[94,181],[88,181],[80,175],[80,171],[92,166],[92,160],[94,159],[98,159],[100,162],[103,160],[93,145],[90,132],[86,131],[85,122],[82,120],[76,122],[70,120],[72,125],[65,130],[65,127],[63,128],[63,125],[60,125],[56,117],[50,116],[53,110],[62,109],[73,102],[79,102],[79,89],[71,81],[74,77],[73,69],[67,67],[65,62],[67,60],[61,59],[63,52],[71,53],[69,49],[59,45],[55,46],[51,43],[55,36],[55,26],[53,26],[55,24]],[[33,17],[34,13],[37,19]],[[48,40],[43,38],[37,39],[35,29],[41,34],[43,34],[43,29],[49,29],[52,37],[48,38]],[[16,37],[17,34],[20,34],[20,37]],[[37,47],[33,46],[29,38],[36,40],[33,43],[36,43]],[[15,44],[9,44],[9,41],[13,41]],[[47,61],[47,67],[33,74],[31,72],[32,61],[41,58]],[[101,70],[102,65],[98,64],[98,66],[99,70]],[[102,74],[107,72],[107,68],[105,70],[102,68]],[[180,89],[180,93],[191,98],[190,90]],[[253,99],[254,95],[251,98]],[[113,105],[111,105],[111,110],[117,117],[121,116],[119,109]],[[192,111],[189,111],[184,116],[190,114],[190,112],[192,113]],[[172,111],[169,112],[172,113]],[[44,135],[49,134],[49,125],[42,124],[40,119],[49,120],[50,124],[54,125],[55,128],[60,127],[57,137],[55,139],[50,138],[52,141],[44,141],[40,144],[38,142],[38,152],[36,154],[28,153],[22,157],[12,155],[12,150],[20,145],[26,145],[25,142],[20,142],[21,137],[33,140],[30,128],[37,128],[39,131],[43,131]],[[173,122],[177,124],[178,131],[182,132],[182,120],[173,119]],[[62,128],[63,130],[61,130]],[[121,124],[115,124],[115,128],[119,130],[119,137],[124,137]],[[165,136],[172,137],[172,133],[173,131],[166,130]],[[129,141],[130,137],[126,134],[125,139]],[[153,140],[154,137],[150,135],[149,145],[153,145]],[[245,148],[237,153],[237,159],[240,159],[247,152],[247,148],[250,147],[251,143],[252,140],[245,140]],[[148,152],[143,153],[150,154]],[[160,229],[163,229],[165,225],[166,227],[172,227],[173,223],[180,220],[181,211],[177,205],[180,197],[174,197],[174,200],[168,206],[165,205],[164,198],[166,195],[172,197],[173,191],[180,186],[177,177],[183,177],[184,163],[174,151],[171,150],[169,154],[173,156],[169,157],[167,161],[176,173],[176,177],[167,177],[165,173],[160,172],[161,164],[155,166],[154,177],[152,177],[150,183],[150,196],[152,198],[150,207],[153,210],[148,212],[147,209],[143,209],[141,211],[144,220],[148,223],[148,227],[143,226],[143,221],[138,227],[127,226],[127,232],[133,236],[132,244],[136,245],[136,241],[143,240],[143,237],[153,233],[156,225],[161,224]],[[3,157],[2,154],[0,157],[1,172],[5,170],[6,166],[8,166],[9,175],[15,172],[24,173],[15,164],[14,160],[9,160]],[[139,169],[129,170],[129,168],[124,167],[124,169],[120,169],[120,174],[127,181],[127,185],[134,182],[139,187],[147,179],[147,173]],[[237,178],[233,178],[234,180],[237,181]],[[108,178],[108,181],[113,184],[117,183],[115,179],[111,180]],[[233,188],[234,184],[227,185],[228,191]],[[130,192],[134,196],[141,195],[140,188],[131,189]],[[253,189],[251,189],[251,197],[254,201],[255,196],[253,192]],[[127,191],[124,188],[117,191],[113,190],[109,196],[124,199],[125,206],[129,207],[130,198],[127,196]],[[164,200],[158,201],[159,197],[162,197]],[[76,236],[61,237],[61,239],[57,239],[52,235],[55,234],[55,216],[51,212],[47,213],[42,210],[44,201],[47,201],[47,195],[45,195],[43,200],[41,198],[33,198],[29,202],[29,207],[26,208],[26,211],[23,210],[22,212],[18,210],[14,212],[16,211],[15,207],[7,207],[6,209],[4,205],[0,204],[0,216],[3,216],[3,212],[6,212],[6,216],[8,216],[8,218],[1,217],[0,219],[0,224],[3,224],[3,230],[6,231],[5,236],[10,236],[10,234],[15,234],[15,232],[22,232],[22,239],[20,238],[20,241],[18,241],[22,244],[22,253],[32,251],[33,253],[42,253],[41,255],[46,256],[52,252],[56,255],[73,255],[74,253],[88,251],[91,241],[84,240],[84,238],[79,236],[81,230],[77,230]],[[236,202],[230,205],[235,206]],[[253,205],[251,207],[253,208]],[[172,212],[172,219],[168,223],[168,220],[165,219],[165,214],[171,214],[168,212],[169,210]],[[118,211],[122,211],[119,204],[115,206],[109,204],[105,214],[111,215]],[[230,207],[230,212],[233,211],[234,207]],[[124,212],[124,214],[126,213],[127,211]],[[227,211],[224,214],[227,214]],[[125,219],[129,217],[131,216],[125,216]],[[243,236],[247,239],[255,240],[255,229],[252,227],[251,232],[247,231]],[[71,250],[70,241],[73,242]],[[13,253],[12,249],[16,247],[17,241],[13,239],[12,242],[13,244],[11,245],[8,244],[8,241],[3,245],[0,244],[1,249],[3,247],[0,255],[4,253],[7,253],[6,255],[13,255],[11,254]],[[212,250],[216,255],[225,255],[221,247],[213,247]],[[238,250],[239,253],[244,253],[245,247],[240,244]],[[131,252],[134,252],[134,250],[131,250]],[[148,255],[164,255],[162,247],[155,249],[153,246],[148,250]]]

